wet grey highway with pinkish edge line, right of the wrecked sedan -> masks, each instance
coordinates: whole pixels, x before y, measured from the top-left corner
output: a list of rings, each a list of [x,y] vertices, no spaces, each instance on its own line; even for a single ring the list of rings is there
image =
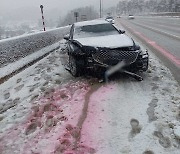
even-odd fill
[[[117,19],[132,36],[138,37],[154,51],[180,83],[180,18],[126,17]]]

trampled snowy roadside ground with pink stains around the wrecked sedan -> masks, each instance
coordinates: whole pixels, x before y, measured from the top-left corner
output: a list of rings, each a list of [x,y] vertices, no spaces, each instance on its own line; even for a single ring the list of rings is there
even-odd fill
[[[56,50],[0,85],[0,153],[180,153],[180,87],[151,52],[142,82],[75,79],[64,57]]]

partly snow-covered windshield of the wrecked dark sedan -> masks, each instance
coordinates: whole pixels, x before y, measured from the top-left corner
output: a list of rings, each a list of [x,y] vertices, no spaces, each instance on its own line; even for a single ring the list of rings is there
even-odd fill
[[[111,24],[85,25],[75,28],[74,38],[96,37],[114,34],[119,33]]]

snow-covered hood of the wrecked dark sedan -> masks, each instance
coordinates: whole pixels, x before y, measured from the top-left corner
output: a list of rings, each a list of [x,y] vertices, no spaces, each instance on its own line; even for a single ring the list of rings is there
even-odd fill
[[[76,38],[83,46],[120,48],[133,46],[133,40],[125,34],[106,35],[97,37]]]

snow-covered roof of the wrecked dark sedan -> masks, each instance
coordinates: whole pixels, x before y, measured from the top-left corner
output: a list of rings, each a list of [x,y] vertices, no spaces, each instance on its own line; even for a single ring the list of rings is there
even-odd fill
[[[87,26],[87,25],[98,25],[98,24],[109,24],[109,22],[105,21],[104,19],[96,19],[96,20],[89,20],[89,21],[82,21],[74,23],[75,26]]]

